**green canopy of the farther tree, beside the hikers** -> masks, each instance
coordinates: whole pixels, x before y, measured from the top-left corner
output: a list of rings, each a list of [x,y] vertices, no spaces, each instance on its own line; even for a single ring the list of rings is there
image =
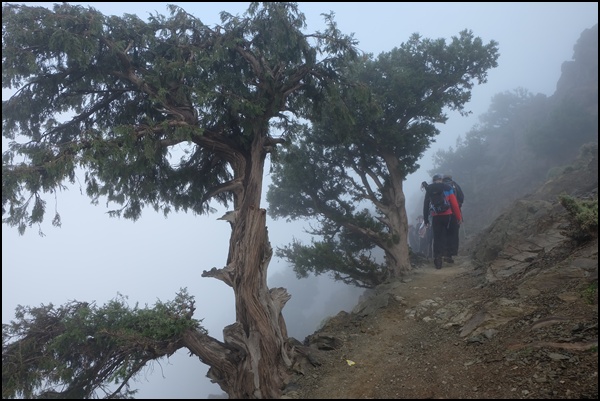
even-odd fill
[[[299,276],[331,272],[364,287],[410,270],[402,183],[446,111],[467,113],[471,89],[498,56],[495,41],[464,30],[449,43],[414,34],[351,63],[350,81],[329,92],[318,119],[282,151],[267,194],[273,217],[316,217],[310,232],[323,239],[295,241],[278,255]]]

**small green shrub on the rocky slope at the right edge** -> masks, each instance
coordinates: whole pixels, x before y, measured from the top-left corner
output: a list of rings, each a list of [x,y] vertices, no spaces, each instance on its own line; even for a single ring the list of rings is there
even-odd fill
[[[594,199],[575,199],[572,196],[560,195],[560,204],[567,210],[571,218],[569,236],[586,241],[598,236],[598,197]]]

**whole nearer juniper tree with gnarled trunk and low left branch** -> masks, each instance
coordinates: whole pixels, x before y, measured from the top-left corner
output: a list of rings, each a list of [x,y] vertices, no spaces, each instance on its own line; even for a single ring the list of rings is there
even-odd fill
[[[45,196],[80,175],[87,196],[132,220],[147,207],[168,215],[231,205],[227,261],[202,276],[233,289],[236,321],[223,341],[209,336],[185,292],[151,309],[24,308],[3,326],[3,398],[128,396],[147,363],[183,347],[230,398],[281,395],[294,347],[282,317],[289,294],[266,283],[264,164],[294,120],[320,107],[356,43],[332,14],[323,32],[305,33],[296,3],[250,3],[212,27],[169,11],[143,21],[3,3],[2,85],[15,91],[2,101],[3,223],[24,234],[43,221]]]

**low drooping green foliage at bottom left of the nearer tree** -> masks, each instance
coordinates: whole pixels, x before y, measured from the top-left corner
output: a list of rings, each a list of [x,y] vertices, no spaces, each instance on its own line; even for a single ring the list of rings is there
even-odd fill
[[[127,398],[128,381],[201,330],[194,299],[182,289],[153,308],[119,296],[105,306],[71,301],[16,309],[2,325],[2,398]]]

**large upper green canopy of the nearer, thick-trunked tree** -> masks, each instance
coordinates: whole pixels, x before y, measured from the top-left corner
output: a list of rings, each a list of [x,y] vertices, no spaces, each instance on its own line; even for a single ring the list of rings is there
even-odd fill
[[[145,22],[3,3],[2,84],[16,89],[2,102],[4,223],[40,224],[38,199],[80,171],[94,203],[117,205],[111,216],[229,207],[223,188],[249,173],[251,147],[263,146],[263,161],[282,142],[270,127],[318,109],[356,55],[332,16],[313,45],[296,3],[251,3],[215,28],[168,9]]]

